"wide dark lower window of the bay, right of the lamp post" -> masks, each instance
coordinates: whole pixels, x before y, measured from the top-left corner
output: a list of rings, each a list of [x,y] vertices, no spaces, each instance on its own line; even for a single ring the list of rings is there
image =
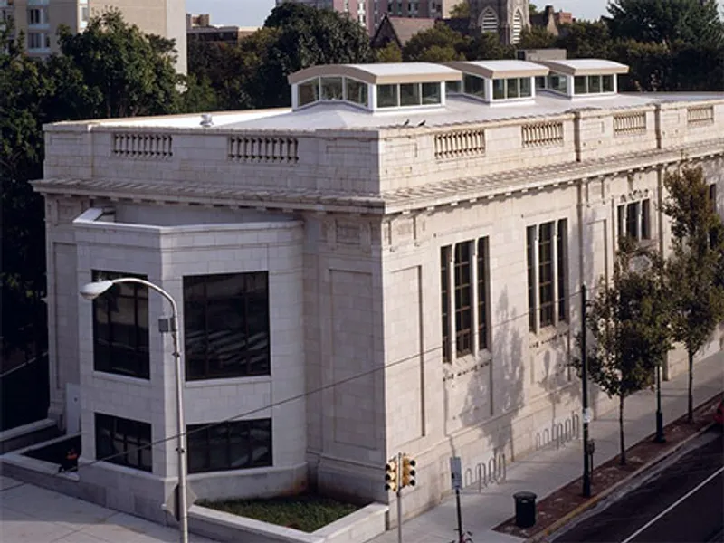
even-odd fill
[[[271,466],[271,418],[186,428],[188,472],[221,472]]]

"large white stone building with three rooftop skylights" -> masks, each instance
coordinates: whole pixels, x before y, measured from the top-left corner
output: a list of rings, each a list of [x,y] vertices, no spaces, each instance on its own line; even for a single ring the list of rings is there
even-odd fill
[[[581,285],[610,276],[620,235],[667,250],[662,181],[683,161],[724,207],[724,95],[623,95],[624,71],[320,66],[291,75],[291,110],[46,127],[51,416],[82,431],[89,495],[159,519],[175,484],[165,302],[78,296],[110,274],[179,302],[201,498],[387,501],[386,459],[408,452],[412,515],[449,490],[453,453],[469,482],[569,438]]]

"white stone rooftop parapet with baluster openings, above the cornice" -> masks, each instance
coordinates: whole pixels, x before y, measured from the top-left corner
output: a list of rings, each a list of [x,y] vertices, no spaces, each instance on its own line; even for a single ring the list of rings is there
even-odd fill
[[[45,177],[378,195],[517,168],[680,152],[720,141],[722,134],[722,99],[379,129],[244,132],[130,127],[116,119],[112,126],[94,121],[46,127]]]

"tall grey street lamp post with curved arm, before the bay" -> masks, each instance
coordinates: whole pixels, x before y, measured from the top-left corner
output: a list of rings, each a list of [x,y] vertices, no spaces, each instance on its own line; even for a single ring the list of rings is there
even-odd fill
[[[186,508],[186,428],[184,418],[184,384],[182,378],[181,367],[181,346],[178,341],[178,308],[176,300],[161,287],[152,282],[135,277],[121,277],[119,279],[107,281],[95,281],[87,283],[81,289],[81,296],[86,300],[95,300],[103,292],[108,291],[113,285],[119,283],[138,283],[148,287],[152,291],[157,291],[161,296],[168,300],[171,304],[171,321],[169,330],[174,338],[174,358],[176,360],[176,451],[178,452],[178,529],[180,532],[181,543],[188,542],[188,518]]]

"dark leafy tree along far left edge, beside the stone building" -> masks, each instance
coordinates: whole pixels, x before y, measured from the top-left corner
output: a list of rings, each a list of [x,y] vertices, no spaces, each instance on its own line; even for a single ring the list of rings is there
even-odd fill
[[[28,57],[24,36],[9,39],[13,27],[0,29],[0,296],[2,356],[30,357],[42,350],[45,336],[45,224],[43,198],[29,179],[43,176],[43,122],[55,90],[46,65]],[[35,353],[37,354],[37,352]]]

